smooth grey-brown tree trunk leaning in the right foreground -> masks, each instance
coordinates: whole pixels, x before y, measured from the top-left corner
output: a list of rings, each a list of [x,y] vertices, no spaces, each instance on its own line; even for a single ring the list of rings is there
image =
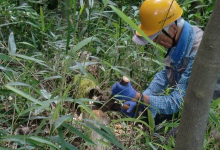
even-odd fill
[[[203,35],[183,106],[176,150],[202,150],[212,94],[220,74],[220,1]]]

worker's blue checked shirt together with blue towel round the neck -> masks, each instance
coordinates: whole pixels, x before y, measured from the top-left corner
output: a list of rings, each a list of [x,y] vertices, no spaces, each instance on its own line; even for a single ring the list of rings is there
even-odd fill
[[[184,34],[186,32],[188,33]],[[149,87],[143,92],[143,95],[149,96],[149,109],[153,117],[159,113],[169,115],[179,111],[186,94],[194,57],[202,39],[202,34],[201,29],[189,25],[186,21],[184,22],[179,42],[176,47],[171,49],[168,57],[174,70],[180,69],[184,58],[187,58],[188,64],[185,71],[181,75],[177,71],[175,72],[177,82],[169,95],[162,95],[169,86],[166,67],[155,75]],[[178,54],[178,52],[181,52],[181,54]]]

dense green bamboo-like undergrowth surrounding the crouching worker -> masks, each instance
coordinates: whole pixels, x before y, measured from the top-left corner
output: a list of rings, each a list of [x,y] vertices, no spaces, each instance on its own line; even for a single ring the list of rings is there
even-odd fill
[[[0,2],[0,148],[88,149],[94,131],[107,149],[174,147],[167,132],[181,112],[157,126],[111,112],[106,126],[89,106],[91,88],[110,91],[126,75],[142,91],[163,68],[163,48],[131,40],[141,2],[69,0],[54,10],[35,0]],[[179,2],[183,17],[205,29],[214,1]],[[204,149],[219,147],[219,104],[212,102]]]

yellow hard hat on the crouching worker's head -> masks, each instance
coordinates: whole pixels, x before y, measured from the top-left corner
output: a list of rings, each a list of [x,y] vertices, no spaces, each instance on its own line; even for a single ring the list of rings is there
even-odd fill
[[[183,10],[175,0],[145,0],[140,7],[139,28],[147,36],[151,36],[180,18],[182,14]],[[141,36],[138,32],[136,34]]]

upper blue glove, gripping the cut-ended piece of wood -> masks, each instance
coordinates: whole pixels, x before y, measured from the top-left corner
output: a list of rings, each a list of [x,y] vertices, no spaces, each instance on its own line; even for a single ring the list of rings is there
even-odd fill
[[[112,86],[112,93],[114,95],[119,95],[116,97],[117,99],[124,99],[126,101],[131,101],[136,95],[136,91],[133,89],[130,82],[128,82],[127,85],[121,85],[119,82],[116,82]]]

